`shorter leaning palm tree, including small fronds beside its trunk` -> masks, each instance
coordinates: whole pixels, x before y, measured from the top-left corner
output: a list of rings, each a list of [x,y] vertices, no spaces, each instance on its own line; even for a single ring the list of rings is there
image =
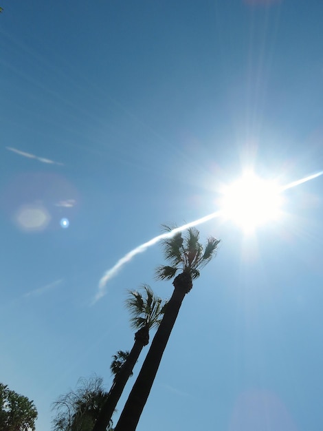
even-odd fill
[[[142,348],[149,342],[149,330],[158,326],[161,322],[161,316],[164,315],[165,303],[161,298],[155,297],[151,288],[144,284],[145,295],[137,291],[129,291],[129,297],[126,299],[126,307],[131,313],[131,326],[137,329],[135,333],[135,344],[131,352],[124,353],[120,350],[115,355],[115,360],[111,364],[114,379],[109,397],[105,401],[93,431],[104,431],[111,420],[112,414],[122,395],[124,386],[133,373],[133,367],[142,351]]]

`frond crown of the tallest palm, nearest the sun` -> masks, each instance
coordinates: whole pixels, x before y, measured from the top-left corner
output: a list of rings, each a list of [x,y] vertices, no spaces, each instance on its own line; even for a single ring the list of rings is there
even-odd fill
[[[175,227],[163,225],[164,230],[171,232]],[[205,246],[199,242],[199,231],[191,227],[183,234],[176,233],[162,242],[165,259],[170,265],[160,265],[156,269],[157,280],[171,280],[177,271],[189,273],[192,280],[199,277],[199,270],[203,268],[218,249],[220,240],[210,237]]]

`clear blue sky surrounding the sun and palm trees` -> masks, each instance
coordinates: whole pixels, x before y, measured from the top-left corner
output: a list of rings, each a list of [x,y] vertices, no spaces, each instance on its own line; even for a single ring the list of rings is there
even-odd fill
[[[133,345],[126,289],[172,292],[154,281],[158,245],[91,306],[104,271],[162,223],[216,211],[246,166],[282,185],[322,171],[323,3],[1,6],[0,381],[49,431],[58,395],[94,372],[109,388],[111,356]],[[322,430],[322,186],[286,191],[284,217],[255,235],[201,224],[221,248],[138,431]]]

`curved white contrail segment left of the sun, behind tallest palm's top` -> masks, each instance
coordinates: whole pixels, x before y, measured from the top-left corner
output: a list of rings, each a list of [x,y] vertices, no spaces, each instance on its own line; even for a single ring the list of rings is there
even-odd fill
[[[104,297],[106,293],[105,286],[107,285],[107,282],[111,280],[111,278],[114,277],[118,273],[118,271],[120,271],[120,269],[122,269],[122,266],[124,266],[124,264],[130,262],[135,255],[142,253],[143,251],[146,251],[148,247],[156,244],[156,242],[160,240],[164,240],[165,238],[171,238],[177,232],[185,231],[185,229],[188,229],[189,227],[193,227],[193,226],[196,226],[197,224],[208,222],[208,220],[218,217],[220,213],[221,211],[216,211],[215,213],[205,215],[205,217],[199,218],[198,220],[194,220],[194,222],[186,223],[186,224],[183,224],[183,226],[172,229],[172,231],[170,232],[161,233],[161,235],[155,236],[155,238],[153,238],[152,240],[144,242],[144,244],[141,244],[140,246],[137,246],[135,249],[129,251],[129,253],[126,253],[126,255],[124,255],[124,257],[118,260],[118,262],[111,269],[109,269],[106,273],[104,273],[103,277],[99,282],[99,291],[94,297],[92,304],[95,304],[99,299]]]

